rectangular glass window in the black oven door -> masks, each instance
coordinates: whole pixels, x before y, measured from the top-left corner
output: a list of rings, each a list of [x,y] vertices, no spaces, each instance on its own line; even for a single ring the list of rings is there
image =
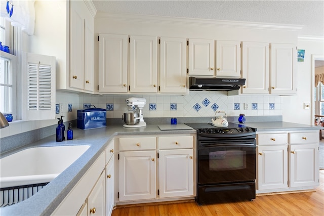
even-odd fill
[[[242,150],[215,151],[209,153],[211,171],[247,168],[247,152]]]

